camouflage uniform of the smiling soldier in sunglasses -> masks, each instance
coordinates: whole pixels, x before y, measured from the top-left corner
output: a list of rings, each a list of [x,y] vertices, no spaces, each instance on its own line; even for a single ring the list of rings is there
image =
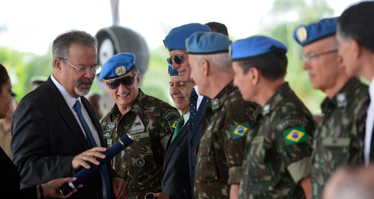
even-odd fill
[[[107,139],[108,147],[126,133],[134,140],[130,147],[112,159],[113,169],[129,185],[129,199],[144,199],[147,193],[161,192],[165,147],[172,135],[169,121],[178,118],[176,108],[139,89],[129,112],[121,116],[114,104],[102,120],[103,131],[111,129],[110,122],[115,123],[113,134]]]

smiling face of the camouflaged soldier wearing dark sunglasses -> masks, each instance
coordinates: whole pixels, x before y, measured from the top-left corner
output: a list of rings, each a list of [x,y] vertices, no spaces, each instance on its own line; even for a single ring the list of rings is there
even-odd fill
[[[127,77],[127,76],[134,76],[134,74],[133,74],[133,72],[129,72],[128,74],[123,75],[119,78],[115,78],[115,79],[111,79],[111,80],[103,80],[107,90],[110,93],[110,96],[113,98],[113,100],[116,101],[117,106],[119,108],[131,107],[134,100],[137,98],[137,96],[139,94],[140,74],[138,73],[138,75],[135,77],[135,82],[134,82],[133,85],[126,87],[126,86],[120,84],[120,86],[116,90],[109,89],[109,87],[108,87],[108,85],[106,84],[105,81],[110,82],[110,81],[120,79],[120,78],[124,78],[124,77]]]

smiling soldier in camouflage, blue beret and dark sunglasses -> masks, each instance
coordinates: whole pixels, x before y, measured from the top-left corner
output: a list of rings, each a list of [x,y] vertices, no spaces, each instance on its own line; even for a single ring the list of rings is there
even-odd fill
[[[134,141],[112,160],[113,168],[128,184],[129,199],[161,192],[165,148],[173,133],[169,121],[180,118],[178,110],[142,92],[133,53],[111,57],[99,78],[116,101],[101,121],[108,147],[125,134]]]

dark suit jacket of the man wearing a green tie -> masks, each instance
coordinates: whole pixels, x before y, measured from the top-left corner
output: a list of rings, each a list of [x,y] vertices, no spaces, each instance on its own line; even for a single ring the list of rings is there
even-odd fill
[[[188,126],[183,126],[176,138],[170,137],[166,145],[161,188],[170,199],[191,199],[188,166]]]

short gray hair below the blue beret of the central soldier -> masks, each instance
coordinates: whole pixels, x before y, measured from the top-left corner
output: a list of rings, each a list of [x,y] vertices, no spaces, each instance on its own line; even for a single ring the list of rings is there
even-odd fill
[[[195,55],[197,64],[200,66],[201,60],[208,61],[219,72],[233,73],[231,57],[228,53],[217,53],[211,55]]]

